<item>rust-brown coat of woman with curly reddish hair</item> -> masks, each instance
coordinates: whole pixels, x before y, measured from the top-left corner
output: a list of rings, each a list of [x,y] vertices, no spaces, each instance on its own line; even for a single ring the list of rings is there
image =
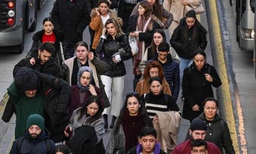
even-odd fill
[[[172,92],[170,92],[170,86],[167,83],[167,81],[165,80],[165,78],[162,80],[162,90],[163,90],[164,94],[168,94],[168,95],[172,96]],[[148,81],[146,81],[145,79],[139,81],[137,83],[135,92],[138,92],[139,96],[141,96],[142,94],[145,94],[145,93],[150,93],[150,84],[148,83]]]

